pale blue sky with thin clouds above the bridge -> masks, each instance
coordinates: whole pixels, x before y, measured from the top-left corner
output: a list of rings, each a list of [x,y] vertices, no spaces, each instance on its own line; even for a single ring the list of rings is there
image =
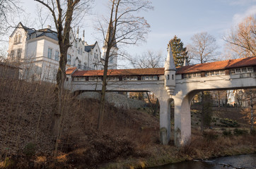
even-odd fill
[[[248,15],[256,15],[256,0],[151,0],[153,11],[139,13],[151,25],[147,42],[138,46],[127,46],[125,50],[131,55],[141,55],[147,50],[161,51],[167,55],[167,44],[175,35],[185,44],[190,44],[191,37],[199,32],[208,32],[216,38],[219,46],[221,39],[231,28],[242,22]],[[35,16],[37,2],[21,0],[23,8],[30,17]],[[85,18],[83,29],[86,42],[94,44],[97,40],[93,23],[104,15],[107,0],[95,0],[89,17]],[[28,19],[28,18],[27,18]],[[45,27],[48,24],[45,24]],[[81,32],[80,32],[81,35]],[[102,46],[102,44],[100,44]],[[220,49],[223,50],[223,47]],[[122,67],[120,62],[120,67]]]

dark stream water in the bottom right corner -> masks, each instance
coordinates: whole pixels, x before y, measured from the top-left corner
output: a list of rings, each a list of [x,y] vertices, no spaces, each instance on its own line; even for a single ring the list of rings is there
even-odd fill
[[[205,161],[185,161],[149,169],[256,169],[256,154],[212,158]]]

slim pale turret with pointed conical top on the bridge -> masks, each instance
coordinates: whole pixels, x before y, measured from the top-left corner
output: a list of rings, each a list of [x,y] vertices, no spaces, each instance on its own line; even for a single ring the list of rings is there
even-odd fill
[[[168,44],[168,55],[165,61],[165,89],[168,94],[172,95],[175,89],[175,63],[173,59],[173,52],[171,49],[171,44]]]

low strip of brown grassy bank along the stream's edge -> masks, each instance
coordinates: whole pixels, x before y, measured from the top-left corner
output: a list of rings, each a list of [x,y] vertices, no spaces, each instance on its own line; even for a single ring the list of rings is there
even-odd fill
[[[256,138],[251,135],[223,137],[214,141],[204,137],[194,137],[187,146],[177,148],[175,146],[157,145],[149,147],[151,156],[140,159],[125,159],[115,163],[107,163],[100,168],[149,168],[194,159],[208,159],[222,156],[235,156],[241,154],[256,153]],[[245,141],[247,140],[247,141]]]

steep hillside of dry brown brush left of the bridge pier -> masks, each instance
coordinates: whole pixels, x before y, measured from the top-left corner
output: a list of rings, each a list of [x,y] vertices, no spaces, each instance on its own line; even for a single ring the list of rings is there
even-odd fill
[[[52,161],[54,139],[50,135],[53,90],[54,85],[44,82],[1,79],[1,163],[9,158],[15,160],[12,165],[16,168],[28,167],[31,160],[37,167],[56,163]],[[66,92],[62,137],[58,140],[59,168],[64,165],[93,167],[119,158],[143,157],[148,154],[147,147],[158,142],[158,119],[147,113],[126,111],[111,105],[106,105],[103,130],[95,130],[98,108],[97,100],[77,100]],[[30,149],[25,150],[28,145]],[[32,156],[25,155],[31,153]],[[47,158],[47,163],[38,160],[39,156]]]

